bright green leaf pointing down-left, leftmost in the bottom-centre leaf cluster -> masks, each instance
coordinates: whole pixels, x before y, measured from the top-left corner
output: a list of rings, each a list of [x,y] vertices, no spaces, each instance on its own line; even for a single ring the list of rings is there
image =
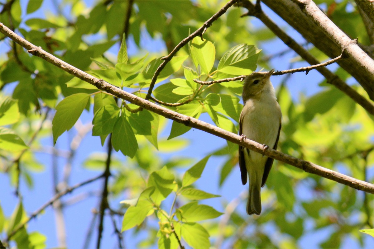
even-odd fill
[[[148,200],[140,200],[136,206],[130,206],[123,216],[121,232],[140,225],[152,209],[153,204]]]

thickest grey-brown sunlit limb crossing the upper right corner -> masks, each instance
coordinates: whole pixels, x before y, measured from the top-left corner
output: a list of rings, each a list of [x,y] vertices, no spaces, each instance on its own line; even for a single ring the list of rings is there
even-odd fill
[[[307,16],[301,11],[297,4],[289,0],[262,0],[262,2],[303,35],[306,40],[329,57],[336,57],[345,49],[349,56],[344,60],[340,60],[338,64],[349,72],[349,74],[362,85],[365,91],[367,91],[370,99],[374,100],[373,60],[359,49],[357,44],[350,40],[343,31],[336,27],[315,4],[310,1],[308,7],[304,8],[307,13],[310,13],[310,15],[308,14]],[[297,2],[306,3],[306,1]],[[315,7],[310,7],[312,5]],[[310,12],[310,9],[313,9],[313,11]],[[313,16],[318,18],[316,19]],[[342,40],[337,41],[340,38]]]

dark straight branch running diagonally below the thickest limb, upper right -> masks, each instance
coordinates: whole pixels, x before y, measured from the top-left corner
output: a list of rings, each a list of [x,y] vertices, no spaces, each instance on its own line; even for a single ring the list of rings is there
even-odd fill
[[[282,0],[280,0],[282,1]],[[298,44],[294,39],[286,34],[275,22],[272,21],[262,10],[255,8],[254,4],[250,1],[242,1],[242,6],[248,9],[249,13],[261,20],[276,36],[278,36],[283,43],[288,47],[293,49],[298,55],[306,60],[310,65],[316,65],[320,63],[313,55],[311,55],[303,46]],[[348,59],[340,60],[338,63],[342,63]],[[316,70],[322,74],[329,84],[335,85],[340,91],[343,91],[347,96],[353,99],[356,103],[362,106],[368,113],[374,115],[374,105],[371,101],[367,100],[361,94],[359,94],[355,89],[347,85],[343,80],[341,80],[337,75],[332,73],[329,69],[325,67],[316,68]],[[274,74],[276,75],[276,74]],[[372,83],[370,83],[372,84]]]

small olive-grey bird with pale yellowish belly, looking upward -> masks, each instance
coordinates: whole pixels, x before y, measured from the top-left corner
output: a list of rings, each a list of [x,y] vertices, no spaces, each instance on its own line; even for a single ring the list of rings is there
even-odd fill
[[[282,113],[270,82],[273,72],[274,69],[267,74],[254,72],[245,78],[242,95],[244,107],[240,113],[239,135],[277,149]],[[239,166],[243,185],[247,183],[247,172],[249,176],[249,215],[261,213],[261,187],[265,185],[273,161],[273,158],[239,146]]]

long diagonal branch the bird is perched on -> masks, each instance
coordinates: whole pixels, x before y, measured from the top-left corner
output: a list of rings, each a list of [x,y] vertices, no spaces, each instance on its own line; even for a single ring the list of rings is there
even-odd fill
[[[190,116],[186,116],[178,112],[171,111],[162,106],[156,105],[148,100],[142,99],[141,97],[135,96],[134,94],[128,93],[114,85],[107,83],[104,80],[100,80],[96,77],[93,77],[92,75],[89,75],[86,72],[83,72],[82,70],[69,65],[63,60],[58,59],[57,57],[45,52],[44,50],[42,50],[41,47],[36,47],[35,45],[26,41],[19,35],[15,34],[9,28],[5,27],[2,23],[0,23],[0,32],[2,32],[4,35],[11,38],[12,40],[16,41],[16,43],[20,44],[22,47],[28,49],[29,53],[38,56],[42,59],[45,59],[46,61],[52,63],[58,68],[63,69],[69,74],[77,78],[80,78],[81,80],[86,81],[92,85],[95,85],[98,89],[113,94],[114,96],[119,97],[120,99],[131,102],[141,108],[147,109],[148,111],[157,113],[161,116],[164,116],[165,118],[172,119],[186,126],[208,132],[212,135],[224,138],[230,142],[239,144],[255,152],[261,153],[266,156],[270,156],[271,158],[274,158],[278,161],[303,169],[306,172],[316,174],[327,179],[336,181],[338,183],[345,184],[352,188],[374,194],[374,184],[367,183],[365,181],[361,181],[353,177],[349,177],[347,175],[332,171],[331,169],[327,169],[322,166],[313,164],[311,162],[304,161],[302,159],[298,159],[285,153],[279,152],[277,150],[264,147],[262,144],[249,140],[248,138],[243,139],[241,136],[223,130],[217,126],[208,124],[206,122],[200,121],[199,119],[192,118]]]

